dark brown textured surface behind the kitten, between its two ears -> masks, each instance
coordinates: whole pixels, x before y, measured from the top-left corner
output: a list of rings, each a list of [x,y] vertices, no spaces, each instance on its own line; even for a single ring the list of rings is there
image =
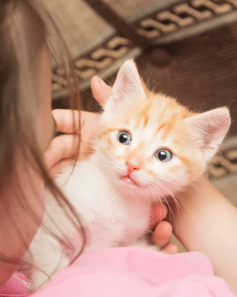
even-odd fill
[[[159,54],[153,49],[152,56]],[[182,103],[201,109],[222,105],[231,107],[231,133],[237,133],[237,24],[177,42],[166,47],[166,65],[159,59],[137,60],[139,71],[150,88],[177,97]],[[115,76],[108,79],[112,82]],[[86,92],[90,93],[90,90]],[[96,110],[94,99],[82,93],[86,109]]]

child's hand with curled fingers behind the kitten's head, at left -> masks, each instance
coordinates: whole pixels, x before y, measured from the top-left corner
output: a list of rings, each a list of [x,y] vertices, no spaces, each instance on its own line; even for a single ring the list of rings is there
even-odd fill
[[[104,102],[112,93],[111,87],[95,76],[91,81],[91,88],[93,96],[99,104],[103,106]],[[75,136],[79,134],[79,112],[74,111],[76,127],[73,127],[73,115],[71,110],[55,109],[52,111],[52,114],[57,124],[57,131],[66,133],[66,135],[55,137],[45,154],[47,168],[52,175],[55,175],[68,163],[68,160],[75,157],[78,151],[78,142],[75,140]],[[91,152],[90,143],[93,139],[98,120],[99,114],[81,111],[80,158]],[[74,128],[76,131],[73,130]]]

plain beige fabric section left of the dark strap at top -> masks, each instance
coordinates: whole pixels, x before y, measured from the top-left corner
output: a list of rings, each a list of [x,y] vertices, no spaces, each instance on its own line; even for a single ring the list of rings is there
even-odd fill
[[[115,30],[82,0],[43,0],[73,57],[86,53]]]

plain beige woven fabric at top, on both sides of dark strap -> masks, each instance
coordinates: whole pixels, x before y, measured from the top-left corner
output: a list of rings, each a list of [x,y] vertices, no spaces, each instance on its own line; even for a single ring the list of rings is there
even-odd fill
[[[95,48],[110,36],[115,29],[101,18],[83,0],[43,0],[61,28],[72,55],[77,57]],[[180,0],[105,0],[114,11],[128,22],[150,14]]]

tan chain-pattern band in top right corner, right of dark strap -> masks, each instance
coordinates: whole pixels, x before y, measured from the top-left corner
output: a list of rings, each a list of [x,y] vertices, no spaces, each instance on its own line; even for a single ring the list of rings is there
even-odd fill
[[[178,31],[184,32],[183,36],[187,38],[195,32],[216,26],[218,22],[223,24],[237,19],[236,10],[236,0],[182,1],[138,22],[137,32],[149,39],[159,37],[156,42],[164,44],[179,39],[181,35],[180,32],[177,35]]]

